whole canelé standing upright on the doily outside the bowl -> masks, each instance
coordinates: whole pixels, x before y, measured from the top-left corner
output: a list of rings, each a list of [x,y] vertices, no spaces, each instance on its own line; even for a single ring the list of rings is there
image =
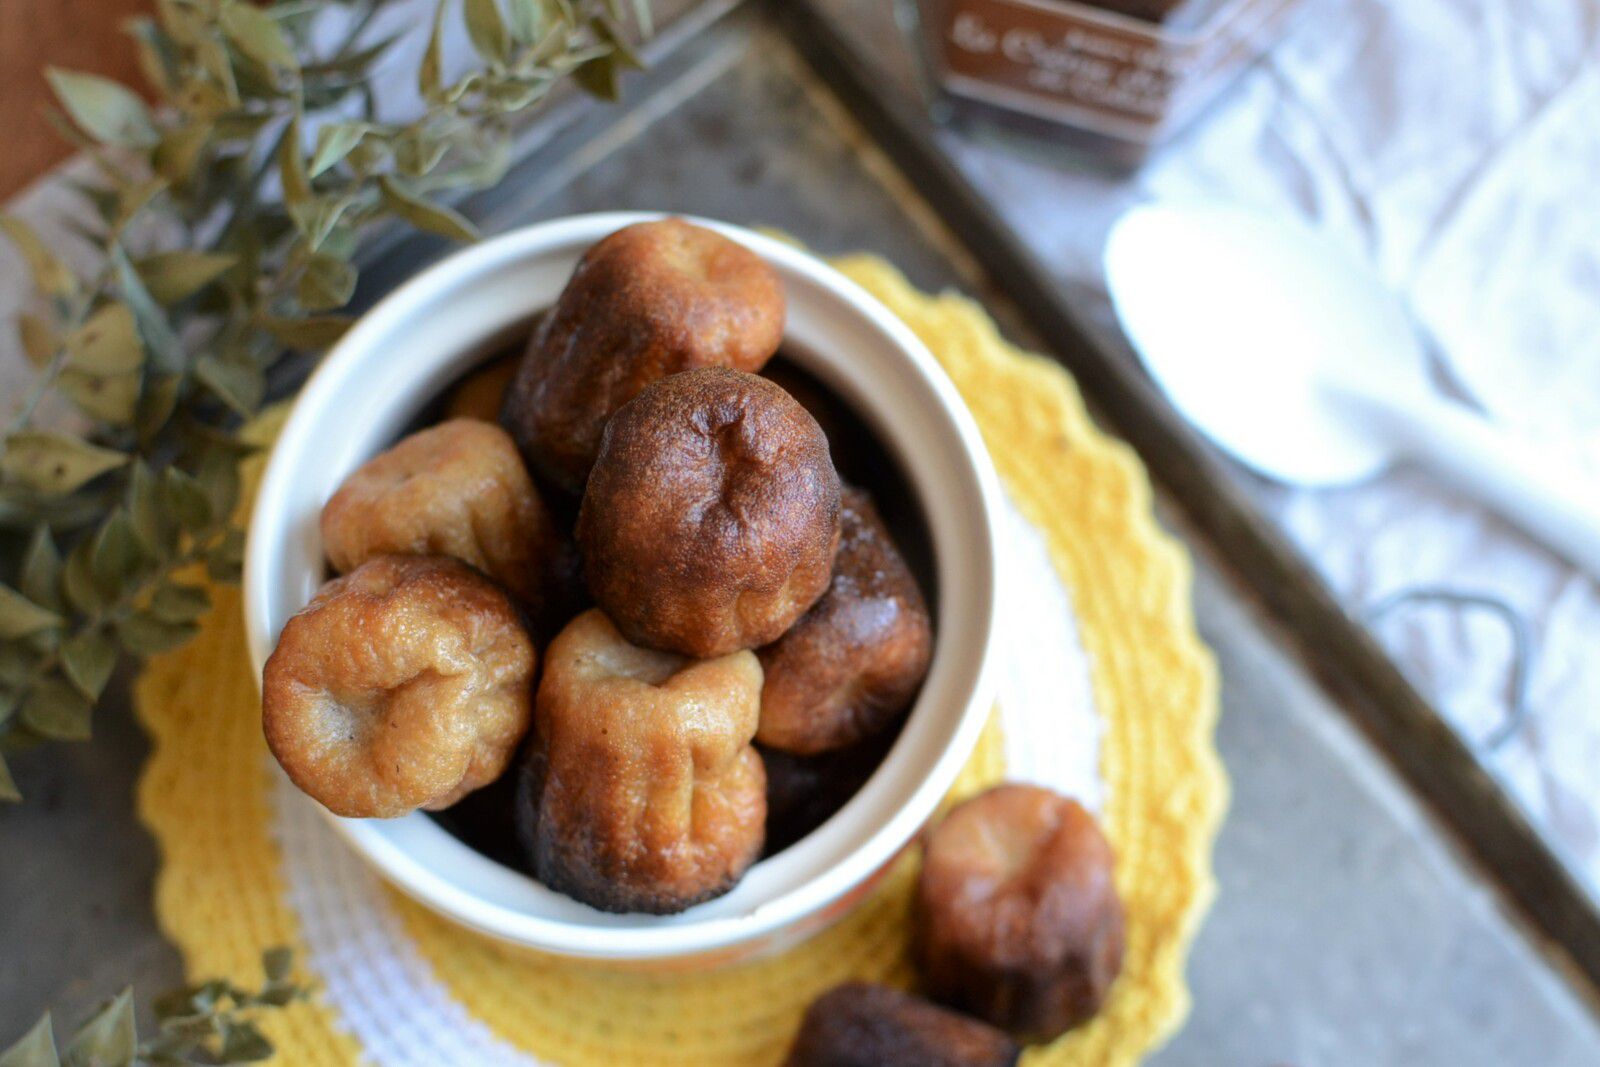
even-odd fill
[[[1112,851],[1075,800],[1006,784],[930,835],[917,961],[934,1000],[1048,1041],[1085,1022],[1122,969]]]

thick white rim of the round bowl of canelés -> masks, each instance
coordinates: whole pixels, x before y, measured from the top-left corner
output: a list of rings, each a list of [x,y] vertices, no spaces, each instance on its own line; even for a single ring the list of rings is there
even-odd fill
[[[282,445],[309,435],[314,427],[322,426],[330,411],[341,410],[338,402],[341,398],[341,386],[344,386],[342,379],[354,365],[373,358],[371,352],[376,347],[397,336],[397,328],[405,323],[413,306],[437,301],[442,294],[459,291],[462,285],[482,277],[486,270],[493,270],[496,264],[538,259],[568,250],[570,246],[578,246],[581,251],[581,248],[622,226],[672,214],[675,213],[606,211],[563,216],[488,238],[424,267],[394,288],[373,304],[346,336],[326,352],[307,378],[283,424],[278,446],[274,448],[261,478],[256,509],[250,520],[243,571],[243,611],[258,686],[262,664],[275,643],[277,629],[285,621],[274,621],[270,617],[272,606],[267,592],[283,566],[278,553],[269,550],[269,541],[282,542],[282,537],[288,531],[288,520],[283,517],[286,510],[285,496],[290,493],[296,474],[296,464],[293,464],[296,448]],[[978,736],[987,720],[995,688],[997,669],[994,648],[998,630],[997,600],[1000,589],[998,569],[1002,565],[998,545],[1002,544],[1000,515],[1003,498],[998,477],[984,448],[978,426],[942,366],[939,366],[933,354],[928,352],[910,328],[877,298],[811,253],[797,245],[728,222],[685,214],[677,214],[677,218],[685,218],[741,242],[771,262],[784,275],[786,286],[790,286],[797,280],[803,282],[821,291],[827,299],[864,318],[872,330],[885,336],[896,355],[931,390],[936,400],[934,406],[942,421],[938,432],[954,437],[968,466],[968,470],[962,474],[978,490],[978,499],[968,504],[976,502],[981,512],[974,528],[979,531],[978,547],[982,558],[963,560],[963,565],[974,574],[981,568],[979,585],[984,590],[981,597],[982,617],[963,624],[962,635],[966,640],[978,640],[981,648],[978,651],[976,669],[962,686],[965,689],[962,697],[965,704],[958,723],[949,733],[938,758],[931,766],[925,768],[915,787],[899,798],[899,805],[890,816],[875,829],[870,829],[835,865],[778,893],[773,899],[760,902],[750,910],[734,915],[694,921],[694,909],[690,909],[677,917],[662,917],[670,921],[638,928],[584,925],[558,917],[520,912],[464,891],[458,885],[438,877],[395,841],[389,840],[389,837],[378,832],[371,825],[371,821],[342,819],[326,813],[318,805],[318,809],[328,817],[334,830],[357,854],[386,880],[422,905],[491,937],[565,957],[650,961],[725,952],[747,942],[781,934],[808,915],[827,909],[891,862],[934,813],[976,745]],[[538,309],[539,306],[530,306],[525,310],[531,314]],[[448,357],[440,355],[437,358],[443,360]],[[883,434],[882,427],[878,432],[880,435]],[[893,442],[886,443],[893,445]],[[907,475],[914,483],[918,482],[914,470],[907,469]],[[922,488],[917,490],[917,494],[918,499],[925,498]],[[922,507],[925,514],[930,510],[926,499],[923,499]],[[930,536],[933,537],[934,557],[938,558],[939,537],[931,526]],[[941,629],[947,622],[941,619]],[[941,646],[942,641],[936,635],[936,649]],[[914,713],[915,710],[914,707]],[[891,749],[880,766],[886,766],[893,758],[894,750]],[[315,801],[307,798],[307,803]],[[848,808],[850,805],[846,805]],[[821,833],[827,825],[824,824],[813,835]],[[469,846],[462,843],[462,848]],[[477,856],[477,853],[474,854]]]

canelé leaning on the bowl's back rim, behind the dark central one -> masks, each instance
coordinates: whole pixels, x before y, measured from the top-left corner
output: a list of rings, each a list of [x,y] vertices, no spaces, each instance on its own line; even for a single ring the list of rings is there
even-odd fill
[[[581,493],[606,421],[653,381],[696,366],[757,371],[784,334],[778,274],[683,219],[594,245],[533,334],[506,395],[523,458]]]

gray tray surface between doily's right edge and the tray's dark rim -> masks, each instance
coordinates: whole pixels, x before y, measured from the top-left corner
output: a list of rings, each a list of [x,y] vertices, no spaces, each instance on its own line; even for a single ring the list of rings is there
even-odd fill
[[[1157,1067],[1600,1062],[1600,1029],[1226,579],[1197,616],[1234,782],[1194,1017]]]

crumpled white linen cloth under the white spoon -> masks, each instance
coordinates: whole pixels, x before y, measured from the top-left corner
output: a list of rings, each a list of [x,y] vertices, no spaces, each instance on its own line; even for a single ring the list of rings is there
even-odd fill
[[[976,184],[1102,317],[1128,203],[1299,216],[1403,294],[1446,376],[1600,494],[1600,3],[1306,0],[1290,34],[1131,179],[946,134]],[[1506,600],[1534,641],[1531,718],[1488,766],[1600,891],[1600,584],[1413,469],[1336,491],[1246,475],[1358,613],[1419,584]],[[1510,641],[1416,606],[1379,633],[1472,741],[1507,712]]]

